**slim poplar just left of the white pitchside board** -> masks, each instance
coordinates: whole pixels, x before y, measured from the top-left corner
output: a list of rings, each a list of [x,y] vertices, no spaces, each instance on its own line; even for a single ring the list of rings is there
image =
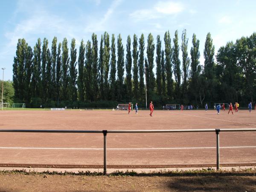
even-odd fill
[[[46,65],[47,65],[47,49],[48,49],[48,40],[44,38],[43,47],[42,47],[42,55],[41,55],[41,61],[42,61],[42,95],[41,99],[43,102],[46,100]]]

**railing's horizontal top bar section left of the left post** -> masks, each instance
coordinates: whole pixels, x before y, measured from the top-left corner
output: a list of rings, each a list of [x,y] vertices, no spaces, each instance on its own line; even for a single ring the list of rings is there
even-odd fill
[[[0,132],[20,132],[20,133],[103,133],[102,130],[26,130],[26,129],[0,129]]]

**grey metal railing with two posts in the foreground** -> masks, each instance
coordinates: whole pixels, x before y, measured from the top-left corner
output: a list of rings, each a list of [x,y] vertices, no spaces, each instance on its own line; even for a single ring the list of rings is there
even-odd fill
[[[172,129],[172,130],[22,130],[22,129],[1,129],[0,132],[19,132],[19,133],[96,133],[103,134],[104,137],[104,175],[107,174],[107,134],[122,134],[122,133],[191,133],[191,132],[215,132],[216,134],[216,168],[220,167],[220,132],[234,131],[256,131],[256,128],[239,128],[239,129]]]

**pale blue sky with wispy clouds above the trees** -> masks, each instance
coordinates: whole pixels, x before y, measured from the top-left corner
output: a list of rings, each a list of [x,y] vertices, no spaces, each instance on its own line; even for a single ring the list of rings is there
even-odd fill
[[[2,1],[0,12],[0,68],[6,67],[5,80],[12,80],[12,64],[18,38],[25,38],[34,47],[38,38],[58,41],[76,38],[87,41],[93,32],[107,31],[127,36],[151,32],[156,40],[169,30],[174,38],[187,30],[189,50],[192,34],[200,40],[201,64],[204,63],[204,42],[212,34],[215,53],[227,41],[256,31],[254,0],[12,0]],[[173,44],[173,42],[172,42]],[[181,51],[180,51],[181,52]],[[2,71],[1,71],[2,74]]]

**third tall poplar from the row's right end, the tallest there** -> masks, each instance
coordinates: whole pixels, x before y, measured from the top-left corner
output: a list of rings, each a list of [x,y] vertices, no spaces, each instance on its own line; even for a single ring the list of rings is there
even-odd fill
[[[189,74],[189,64],[190,59],[188,56],[188,38],[186,36],[186,29],[183,30],[181,36],[181,51],[182,51],[182,69],[183,69],[183,99],[188,99],[187,90],[188,90],[188,74]]]

